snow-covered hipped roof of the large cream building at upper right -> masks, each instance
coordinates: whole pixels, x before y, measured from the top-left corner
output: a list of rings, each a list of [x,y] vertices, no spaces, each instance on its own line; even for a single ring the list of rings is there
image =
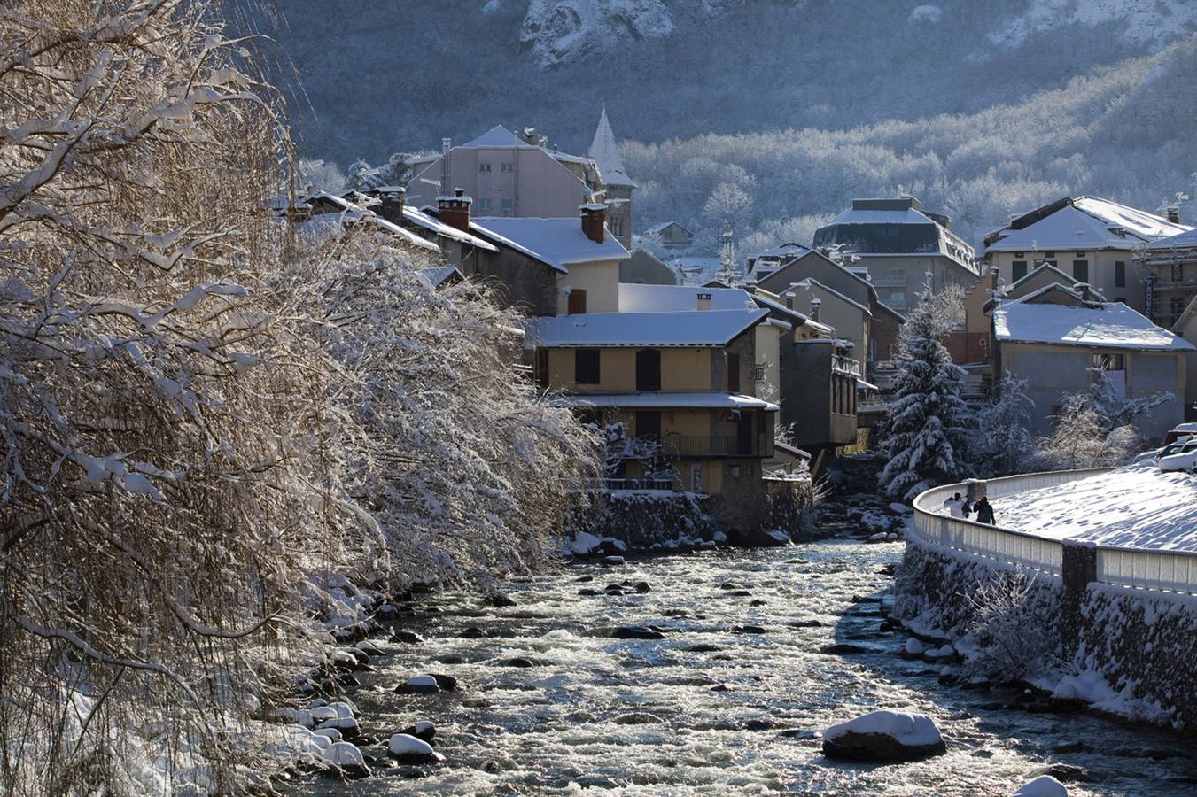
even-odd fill
[[[1134,249],[1143,241],[1175,236],[1190,227],[1163,217],[1095,196],[1080,196],[1020,230],[1004,229],[986,251],[1084,251]],[[1051,206],[1046,206],[1049,209]]]

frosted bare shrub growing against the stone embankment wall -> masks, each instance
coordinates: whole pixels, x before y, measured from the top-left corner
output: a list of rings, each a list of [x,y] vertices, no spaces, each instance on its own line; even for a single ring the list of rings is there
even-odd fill
[[[1022,681],[1061,664],[1055,602],[1034,586],[1021,572],[998,571],[967,596],[966,628],[976,641],[965,663],[968,675]]]

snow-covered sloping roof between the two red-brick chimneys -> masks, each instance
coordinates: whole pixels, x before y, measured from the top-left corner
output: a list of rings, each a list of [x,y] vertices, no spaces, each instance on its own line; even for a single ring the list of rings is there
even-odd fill
[[[469,224],[472,232],[508,245],[529,257],[552,266],[559,272],[572,263],[602,260],[625,260],[630,256],[624,244],[610,231],[596,243],[582,232],[578,219],[539,219],[531,217],[484,217]]]

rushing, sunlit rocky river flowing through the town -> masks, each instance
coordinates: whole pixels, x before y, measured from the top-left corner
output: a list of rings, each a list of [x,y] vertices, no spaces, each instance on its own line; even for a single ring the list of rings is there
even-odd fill
[[[400,623],[425,641],[378,640],[388,655],[350,696],[364,734],[383,744],[432,720],[446,761],[350,783],[312,777],[294,793],[1009,795],[1049,763],[1088,772],[1089,781],[1069,784],[1073,795],[1197,790],[1191,742],[1092,716],[1003,708],[1013,694],[941,686],[935,668],[897,656],[905,634],[881,633],[881,607],[858,598],[888,604],[892,579],[881,571],[900,555],[900,543],[833,540],[575,564],[506,584],[517,606],[499,609],[427,596]],[[650,591],[604,592],[625,580]],[[602,594],[581,596],[585,589]],[[624,625],[668,632],[608,635]],[[486,635],[468,638],[470,627]],[[831,645],[852,647],[824,652]],[[535,665],[505,663],[514,657]],[[421,673],[450,674],[460,689],[394,693]],[[825,759],[808,731],[873,707],[930,714],[948,754],[888,766]],[[1053,752],[1077,743],[1093,752]],[[363,747],[384,758],[383,747]]]

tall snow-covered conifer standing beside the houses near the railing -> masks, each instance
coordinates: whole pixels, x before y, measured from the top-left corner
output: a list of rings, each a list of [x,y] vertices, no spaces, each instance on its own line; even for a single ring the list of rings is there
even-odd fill
[[[967,473],[970,412],[960,398],[960,366],[942,340],[954,326],[959,293],[934,293],[930,278],[898,339],[897,396],[886,418],[879,476],[891,498],[911,500]]]

